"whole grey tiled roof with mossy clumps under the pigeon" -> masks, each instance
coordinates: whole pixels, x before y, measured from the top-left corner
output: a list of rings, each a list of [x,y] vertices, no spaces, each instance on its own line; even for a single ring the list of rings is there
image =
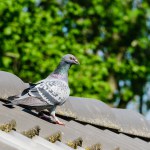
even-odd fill
[[[101,101],[70,97],[57,108],[65,126],[40,119],[35,111],[20,106],[3,106],[8,96],[27,86],[17,76],[3,73],[6,82],[0,78],[1,149],[150,150],[150,122],[137,112],[110,108]],[[8,80],[7,75],[10,75]],[[16,84],[10,86],[13,80]]]

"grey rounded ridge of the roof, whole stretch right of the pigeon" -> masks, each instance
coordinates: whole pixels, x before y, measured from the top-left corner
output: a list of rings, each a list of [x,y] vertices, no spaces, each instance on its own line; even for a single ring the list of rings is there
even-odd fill
[[[70,97],[58,107],[57,113],[117,133],[150,139],[150,123],[143,115],[132,110],[111,108],[98,100]]]

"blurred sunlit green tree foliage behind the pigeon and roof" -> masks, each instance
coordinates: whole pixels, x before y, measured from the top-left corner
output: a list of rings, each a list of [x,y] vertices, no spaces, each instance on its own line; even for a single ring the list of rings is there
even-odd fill
[[[140,97],[150,74],[149,0],[0,1],[0,68],[26,82],[46,77],[60,57],[70,70],[71,94],[118,107]]]

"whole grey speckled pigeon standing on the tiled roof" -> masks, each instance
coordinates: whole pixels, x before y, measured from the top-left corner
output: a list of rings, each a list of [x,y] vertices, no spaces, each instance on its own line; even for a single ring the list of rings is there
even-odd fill
[[[41,118],[45,117],[42,110],[47,109],[56,124],[64,125],[56,117],[55,109],[69,98],[68,71],[73,64],[79,65],[75,56],[72,54],[63,56],[57,68],[47,78],[31,84],[20,95],[9,97],[10,103],[6,105],[31,106],[33,109],[39,109]]]

